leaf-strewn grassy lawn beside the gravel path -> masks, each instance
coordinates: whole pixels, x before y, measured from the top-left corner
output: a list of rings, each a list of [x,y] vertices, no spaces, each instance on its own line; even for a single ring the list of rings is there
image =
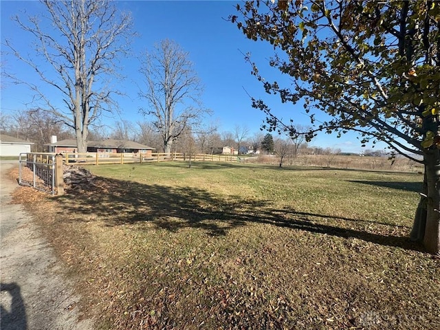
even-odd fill
[[[407,238],[422,175],[187,166],[29,201],[98,329],[440,329],[439,259]]]

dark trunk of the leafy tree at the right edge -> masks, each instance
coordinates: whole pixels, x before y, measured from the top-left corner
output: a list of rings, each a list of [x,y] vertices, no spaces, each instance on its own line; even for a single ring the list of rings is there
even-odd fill
[[[423,153],[425,177],[423,194],[417,207],[411,238],[423,242],[426,250],[440,254],[440,151],[435,148]]]

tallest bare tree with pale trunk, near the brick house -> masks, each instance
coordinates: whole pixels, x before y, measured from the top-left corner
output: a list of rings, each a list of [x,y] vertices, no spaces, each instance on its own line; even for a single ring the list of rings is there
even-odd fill
[[[65,110],[59,109],[60,102],[52,93],[43,92],[40,85],[16,78],[74,129],[78,151],[85,152],[89,125],[102,111],[110,111],[114,103],[111,97],[114,90],[107,82],[117,75],[115,60],[126,54],[135,36],[131,16],[121,13],[110,1],[42,0],[41,3],[47,11],[41,17],[28,17],[27,22],[14,17],[23,30],[34,35],[34,54],[25,57],[10,41],[5,44],[32,67],[44,85],[53,87],[61,96]],[[42,58],[45,65],[36,58]]]

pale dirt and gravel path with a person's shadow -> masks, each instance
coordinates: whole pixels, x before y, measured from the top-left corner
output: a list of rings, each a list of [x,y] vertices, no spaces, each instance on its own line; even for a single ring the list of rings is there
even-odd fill
[[[89,330],[78,320],[79,298],[61,274],[50,245],[23,206],[11,204],[17,188],[5,173],[17,166],[0,162],[0,308],[2,330]]]

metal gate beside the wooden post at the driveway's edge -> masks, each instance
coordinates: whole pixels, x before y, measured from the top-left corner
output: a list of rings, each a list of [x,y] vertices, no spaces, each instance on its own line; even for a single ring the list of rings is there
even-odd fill
[[[55,194],[55,153],[21,153],[19,184]]]

